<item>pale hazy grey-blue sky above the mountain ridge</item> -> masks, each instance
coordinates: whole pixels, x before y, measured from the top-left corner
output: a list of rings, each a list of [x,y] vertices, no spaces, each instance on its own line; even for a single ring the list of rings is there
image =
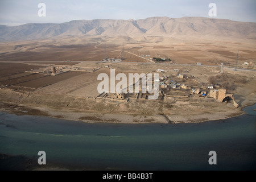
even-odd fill
[[[46,4],[45,17],[38,16],[39,3]],[[143,19],[153,16],[209,17],[210,3],[217,5],[217,16],[213,18],[256,22],[255,0],[0,0],[0,24],[15,26],[79,19]]]

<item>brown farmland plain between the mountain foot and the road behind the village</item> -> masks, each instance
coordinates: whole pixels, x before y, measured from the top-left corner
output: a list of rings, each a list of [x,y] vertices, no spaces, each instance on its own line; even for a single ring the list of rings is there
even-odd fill
[[[124,42],[124,57],[123,44]],[[195,64],[201,62],[208,65],[216,65],[216,61],[236,61],[237,51],[240,50],[240,61],[255,60],[256,48],[254,40],[246,43],[220,42],[218,40],[210,43],[203,40],[179,40],[162,39],[162,42],[149,39],[148,42],[129,42],[122,38],[89,39],[81,40],[44,40],[43,42],[10,42],[0,43],[1,61],[21,61],[21,62],[62,62],[67,60],[73,62],[80,61],[101,61],[106,57],[124,58],[129,62],[150,62],[152,57],[170,58],[177,64]],[[94,42],[93,42],[94,41]],[[116,42],[116,43],[114,43]],[[142,58],[142,55],[150,57]]]

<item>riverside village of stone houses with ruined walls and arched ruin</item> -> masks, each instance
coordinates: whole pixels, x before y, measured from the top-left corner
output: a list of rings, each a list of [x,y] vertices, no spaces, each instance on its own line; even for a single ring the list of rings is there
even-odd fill
[[[106,65],[105,68],[110,68]],[[112,68],[110,68],[112,69]],[[163,69],[158,69],[156,72],[160,73],[159,84],[159,96],[158,101],[168,100],[173,98],[175,101],[183,100],[189,101],[189,98],[212,98],[217,102],[231,102],[234,107],[239,107],[239,104],[235,101],[232,93],[227,93],[227,89],[221,87],[218,84],[203,83],[196,80],[196,77],[185,73],[180,73],[179,69],[173,70],[174,74],[168,75]],[[101,93],[96,99],[104,99],[116,102],[128,102],[130,100],[148,100],[150,93],[143,93],[142,90],[142,78],[139,80],[140,89],[139,93]],[[133,85],[135,86],[135,84]],[[152,83],[152,88],[154,84]],[[145,89],[145,88],[144,88]]]

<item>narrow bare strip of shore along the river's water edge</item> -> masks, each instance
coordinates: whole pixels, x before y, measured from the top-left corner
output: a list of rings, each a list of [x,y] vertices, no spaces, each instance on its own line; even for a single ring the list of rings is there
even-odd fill
[[[67,121],[82,121],[85,123],[122,123],[122,124],[144,124],[144,123],[202,123],[207,121],[217,121],[246,114],[242,109],[254,104],[247,104],[241,107],[239,112],[224,113],[208,113],[204,115],[193,115],[186,118],[184,115],[166,115],[166,114],[125,114],[125,113],[91,113],[81,112],[70,109],[55,110],[49,107],[38,107],[24,104],[14,104],[2,102],[0,111],[15,115],[35,115],[43,117],[51,117],[56,119],[64,119]]]

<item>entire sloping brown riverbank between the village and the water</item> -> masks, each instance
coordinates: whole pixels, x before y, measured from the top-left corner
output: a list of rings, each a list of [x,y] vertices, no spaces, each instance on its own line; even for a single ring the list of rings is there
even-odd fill
[[[212,98],[191,98],[189,101],[129,101],[127,103],[50,96],[0,90],[0,110],[19,115],[42,115],[88,123],[197,123],[227,119],[244,114],[231,103]]]

